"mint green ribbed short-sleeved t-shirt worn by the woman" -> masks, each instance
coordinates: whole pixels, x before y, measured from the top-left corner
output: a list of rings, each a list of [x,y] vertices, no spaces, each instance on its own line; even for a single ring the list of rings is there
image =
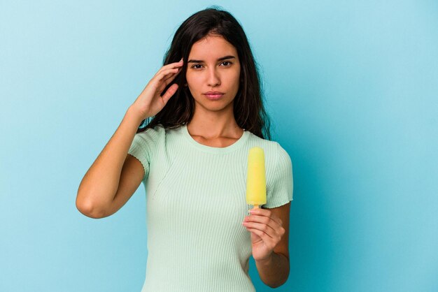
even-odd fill
[[[246,168],[264,149],[267,204],[292,200],[292,163],[276,142],[249,131],[228,147],[210,147],[187,126],[136,133],[128,153],[145,170],[148,261],[141,292],[250,292]]]

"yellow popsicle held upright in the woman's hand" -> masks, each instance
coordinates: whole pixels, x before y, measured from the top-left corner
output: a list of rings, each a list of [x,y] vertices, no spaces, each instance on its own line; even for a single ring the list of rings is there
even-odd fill
[[[264,151],[260,147],[252,147],[248,152],[246,203],[254,205],[255,209],[257,209],[259,205],[266,204]]]

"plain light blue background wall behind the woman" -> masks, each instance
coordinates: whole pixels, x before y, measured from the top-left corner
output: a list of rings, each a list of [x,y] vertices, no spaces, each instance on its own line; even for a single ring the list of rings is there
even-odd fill
[[[105,219],[76,191],[178,26],[211,4],[243,25],[293,163],[276,291],[438,291],[437,1],[5,2],[0,291],[141,290],[143,187]]]

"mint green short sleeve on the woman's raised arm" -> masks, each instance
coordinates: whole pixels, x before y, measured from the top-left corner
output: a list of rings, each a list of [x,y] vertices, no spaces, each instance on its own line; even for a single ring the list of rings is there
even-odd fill
[[[134,156],[141,162],[144,169],[143,180],[149,175],[150,161],[153,159],[153,153],[159,133],[155,129],[146,129],[141,133],[136,133],[129,147],[128,154]]]

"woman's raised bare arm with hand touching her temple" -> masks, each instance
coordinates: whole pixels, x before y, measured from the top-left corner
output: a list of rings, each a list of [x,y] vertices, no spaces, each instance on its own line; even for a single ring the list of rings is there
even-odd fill
[[[143,119],[160,112],[178,89],[174,84],[160,94],[181,71],[183,62],[163,66],[128,108],[120,126],[83,177],[78,188],[76,207],[87,217],[103,218],[117,212],[141,184],[144,169],[140,161],[128,155]]]

